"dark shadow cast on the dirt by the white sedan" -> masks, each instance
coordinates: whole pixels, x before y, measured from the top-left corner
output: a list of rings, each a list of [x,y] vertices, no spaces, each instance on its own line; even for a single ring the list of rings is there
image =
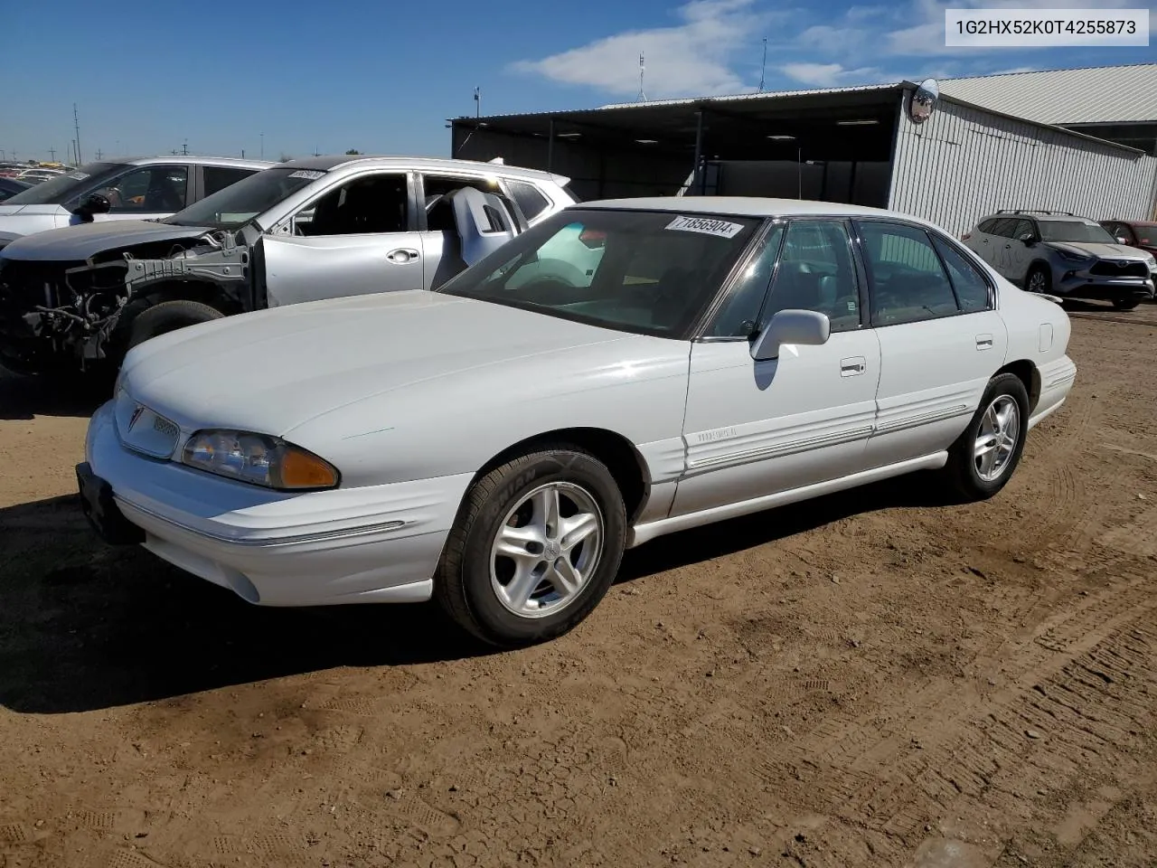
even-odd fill
[[[914,476],[663,537],[627,582],[897,506],[943,503]],[[596,616],[597,617],[597,611]],[[336,667],[501,653],[434,603],[264,609],[89,530],[72,496],[0,509],[0,706],[94,711]]]

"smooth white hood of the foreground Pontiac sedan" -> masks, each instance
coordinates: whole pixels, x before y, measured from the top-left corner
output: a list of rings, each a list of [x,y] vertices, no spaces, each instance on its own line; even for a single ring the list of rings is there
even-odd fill
[[[651,352],[656,341],[673,343],[440,293],[381,293],[169,332],[126,356],[121,382],[138,402],[186,429],[283,435],[338,407],[419,383],[437,400],[441,380],[485,378],[493,389],[498,366],[513,363],[533,377],[580,347],[617,344],[617,354],[632,341]],[[580,355],[589,363],[589,353]]]

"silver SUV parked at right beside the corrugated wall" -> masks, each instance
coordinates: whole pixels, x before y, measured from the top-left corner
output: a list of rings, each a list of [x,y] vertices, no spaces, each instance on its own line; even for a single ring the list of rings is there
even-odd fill
[[[1111,301],[1132,310],[1154,297],[1157,262],[1069,212],[998,211],[961,236],[1001,275],[1033,293]]]

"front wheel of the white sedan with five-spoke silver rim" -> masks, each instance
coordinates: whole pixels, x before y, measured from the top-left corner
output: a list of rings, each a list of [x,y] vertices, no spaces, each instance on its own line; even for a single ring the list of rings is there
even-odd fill
[[[552,492],[559,494],[560,518],[581,512],[591,516],[588,527],[596,528],[569,552],[567,532],[558,524],[553,537],[535,530]],[[502,528],[523,529],[518,560],[495,553]],[[622,494],[606,465],[577,447],[541,447],[495,468],[466,492],[435,576],[435,598],[462,628],[491,645],[554,639],[606,595],[619,572],[626,531]],[[548,566],[552,554],[563,571],[568,564],[577,568],[581,581],[573,582],[573,590]],[[574,573],[566,575],[574,579]]]

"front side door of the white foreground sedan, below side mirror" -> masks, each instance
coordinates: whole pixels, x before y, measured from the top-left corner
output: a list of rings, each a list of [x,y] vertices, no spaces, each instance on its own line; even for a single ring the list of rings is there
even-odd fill
[[[879,343],[863,319],[862,278],[846,221],[796,219],[769,230],[707,334],[692,344],[686,473],[673,514],[863,469]],[[827,343],[783,346],[778,359],[754,361],[756,324],[798,308],[828,316]]]

